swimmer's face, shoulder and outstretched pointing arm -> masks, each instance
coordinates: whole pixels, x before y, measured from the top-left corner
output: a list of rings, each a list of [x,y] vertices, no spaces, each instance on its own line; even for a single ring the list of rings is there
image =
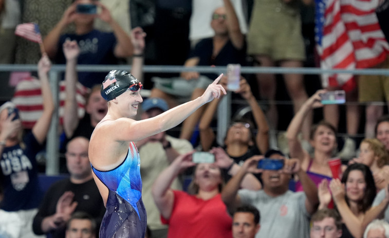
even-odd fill
[[[128,118],[132,116],[131,112],[136,114],[136,109],[139,103],[142,102],[139,90],[125,91],[125,93],[109,101],[107,117],[112,115],[114,120],[106,118],[108,121],[100,123],[96,130],[116,141],[137,141],[169,130],[181,123],[203,104],[212,101],[214,98],[219,98],[221,93],[226,94],[225,89],[217,84],[221,76],[210,84],[205,93],[197,99],[176,106],[156,117],[140,121]]]

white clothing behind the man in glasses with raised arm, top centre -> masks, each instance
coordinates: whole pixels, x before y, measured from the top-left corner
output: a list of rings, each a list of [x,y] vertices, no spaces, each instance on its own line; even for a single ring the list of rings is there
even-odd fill
[[[239,20],[240,31],[247,33],[246,15],[243,13],[242,0],[231,0]],[[189,39],[196,41],[210,38],[215,32],[211,28],[212,13],[216,8],[223,7],[222,0],[193,0],[192,15],[189,22]]]

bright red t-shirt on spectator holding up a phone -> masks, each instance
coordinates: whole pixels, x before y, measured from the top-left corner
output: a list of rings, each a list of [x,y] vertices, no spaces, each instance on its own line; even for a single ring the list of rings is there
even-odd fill
[[[169,238],[228,238],[232,237],[232,218],[220,193],[209,200],[197,198],[182,191],[174,192],[174,204],[170,219],[161,216],[169,225]]]

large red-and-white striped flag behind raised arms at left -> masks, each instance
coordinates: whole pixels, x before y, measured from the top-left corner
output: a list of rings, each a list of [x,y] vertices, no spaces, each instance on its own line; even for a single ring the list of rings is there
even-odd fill
[[[60,124],[63,124],[64,105],[65,105],[65,81],[60,81],[59,89],[59,117]],[[85,114],[85,95],[89,88],[77,83],[76,100],[78,104],[78,116],[82,118]],[[22,126],[25,129],[32,129],[36,120],[43,113],[43,100],[40,81],[34,77],[26,78],[17,84],[14,96],[11,100],[19,109],[19,115],[22,120]]]

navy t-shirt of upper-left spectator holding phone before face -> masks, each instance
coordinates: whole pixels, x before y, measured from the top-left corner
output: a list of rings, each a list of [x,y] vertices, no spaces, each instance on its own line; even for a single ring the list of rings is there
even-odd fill
[[[80,47],[78,64],[117,64],[117,59],[114,55],[116,46],[114,33],[92,30],[83,35],[61,35],[55,60],[58,64],[66,63],[62,45],[67,39],[71,41],[76,40]],[[78,79],[84,86],[92,87],[95,84],[101,84],[106,75],[107,72],[79,72]]]

